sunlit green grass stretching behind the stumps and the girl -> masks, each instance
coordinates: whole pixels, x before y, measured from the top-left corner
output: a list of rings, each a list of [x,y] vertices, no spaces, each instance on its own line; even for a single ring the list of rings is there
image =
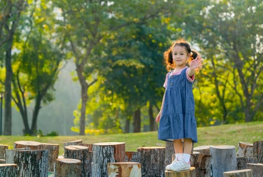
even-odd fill
[[[199,127],[197,146],[204,145],[232,145],[239,142],[253,143],[263,140],[263,121],[227,124],[209,127]],[[29,137],[29,136],[0,136],[0,144],[8,145],[13,149],[16,141],[36,141],[40,143],[59,144],[59,154],[64,153],[63,143],[83,140],[83,143],[99,142],[125,142],[126,151],[136,151],[138,147],[165,146],[165,142],[159,141],[157,131],[140,132],[132,134],[100,135],[100,136],[57,136],[57,137]]]

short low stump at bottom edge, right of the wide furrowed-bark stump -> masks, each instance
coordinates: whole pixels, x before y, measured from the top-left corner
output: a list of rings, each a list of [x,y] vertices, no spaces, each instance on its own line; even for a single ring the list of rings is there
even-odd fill
[[[57,159],[55,175],[56,177],[81,176],[81,161],[78,159]]]

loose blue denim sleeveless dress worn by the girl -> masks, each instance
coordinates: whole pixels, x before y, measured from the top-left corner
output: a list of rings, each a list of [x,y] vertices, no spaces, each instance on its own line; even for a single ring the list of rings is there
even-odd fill
[[[197,143],[193,82],[186,78],[186,69],[178,75],[168,73],[163,112],[160,118],[158,139],[192,139]]]

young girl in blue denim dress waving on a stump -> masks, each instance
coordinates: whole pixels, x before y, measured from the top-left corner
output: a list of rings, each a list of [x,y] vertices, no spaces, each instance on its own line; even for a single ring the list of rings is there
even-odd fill
[[[164,53],[164,61],[170,72],[166,75],[165,94],[156,117],[156,122],[160,121],[158,139],[174,143],[176,157],[166,169],[186,170],[191,167],[192,145],[197,142],[192,85],[195,71],[202,68],[202,59],[189,43],[180,39]]]

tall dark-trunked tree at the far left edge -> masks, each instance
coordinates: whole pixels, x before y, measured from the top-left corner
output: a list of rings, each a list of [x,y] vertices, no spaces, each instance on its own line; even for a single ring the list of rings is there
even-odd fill
[[[0,47],[5,48],[5,66],[6,78],[5,85],[5,115],[4,115],[4,135],[11,135],[12,127],[12,111],[11,111],[11,97],[12,89],[11,82],[13,79],[12,71],[12,45],[14,34],[16,32],[20,14],[26,7],[26,2],[23,0],[17,1],[1,1],[1,15],[0,15]]]

